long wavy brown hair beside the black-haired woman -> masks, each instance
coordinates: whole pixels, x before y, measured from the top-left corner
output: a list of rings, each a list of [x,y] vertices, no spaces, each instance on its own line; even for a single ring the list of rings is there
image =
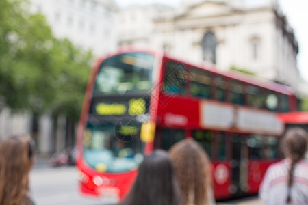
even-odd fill
[[[209,204],[207,190],[210,186],[209,160],[201,146],[192,139],[179,141],[170,148],[185,204]]]

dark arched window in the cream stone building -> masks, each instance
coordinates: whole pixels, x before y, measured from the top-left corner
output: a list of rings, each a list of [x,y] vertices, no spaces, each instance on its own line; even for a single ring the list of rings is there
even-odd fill
[[[216,37],[211,31],[205,33],[202,40],[203,59],[216,64]]]

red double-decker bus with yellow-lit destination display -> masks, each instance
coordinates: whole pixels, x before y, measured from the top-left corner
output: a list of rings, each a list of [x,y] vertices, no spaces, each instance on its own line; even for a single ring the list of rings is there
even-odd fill
[[[166,53],[123,49],[92,68],[77,136],[80,190],[122,198],[145,154],[192,137],[213,164],[216,199],[257,193],[295,111],[289,87]]]

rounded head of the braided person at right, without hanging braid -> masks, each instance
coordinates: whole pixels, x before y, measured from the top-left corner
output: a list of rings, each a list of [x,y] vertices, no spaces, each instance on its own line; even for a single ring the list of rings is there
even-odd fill
[[[296,163],[303,159],[307,150],[307,133],[303,128],[290,128],[281,143],[281,148],[285,157]]]

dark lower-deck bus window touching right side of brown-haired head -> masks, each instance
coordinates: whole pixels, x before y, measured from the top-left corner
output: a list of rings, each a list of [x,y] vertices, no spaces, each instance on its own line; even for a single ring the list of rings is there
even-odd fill
[[[209,155],[209,158],[211,158],[211,141],[213,141],[214,133],[211,131],[193,131],[192,137],[201,145]]]

